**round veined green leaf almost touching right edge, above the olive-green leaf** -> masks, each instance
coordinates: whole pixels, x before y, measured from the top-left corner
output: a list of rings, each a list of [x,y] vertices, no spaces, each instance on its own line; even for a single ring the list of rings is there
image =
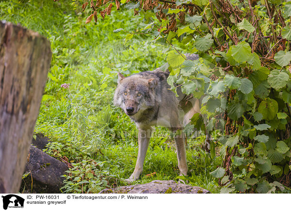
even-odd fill
[[[275,90],[280,90],[281,88],[285,87],[288,80],[289,80],[289,75],[283,72],[280,73],[279,70],[271,71],[268,77],[268,83]]]

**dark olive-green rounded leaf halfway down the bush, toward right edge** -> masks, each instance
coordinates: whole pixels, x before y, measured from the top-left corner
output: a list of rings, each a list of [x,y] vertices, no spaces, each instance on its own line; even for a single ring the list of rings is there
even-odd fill
[[[264,120],[273,120],[278,112],[278,103],[268,97],[259,104],[258,111],[263,115]]]

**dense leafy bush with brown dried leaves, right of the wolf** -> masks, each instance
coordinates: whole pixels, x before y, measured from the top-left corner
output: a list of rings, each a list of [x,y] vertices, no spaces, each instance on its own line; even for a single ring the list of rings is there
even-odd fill
[[[92,14],[110,15],[112,1],[97,1],[103,5],[98,8],[92,2],[87,9]],[[115,4],[119,8],[118,0]],[[290,191],[291,2],[121,0],[121,5],[144,17],[127,40],[149,34],[171,46],[164,67],[172,90],[175,82],[184,93],[205,96],[207,132],[222,128],[216,144],[222,163],[210,173],[224,186],[222,193]],[[178,47],[200,59],[187,60]],[[197,116],[191,123],[201,127]]]

